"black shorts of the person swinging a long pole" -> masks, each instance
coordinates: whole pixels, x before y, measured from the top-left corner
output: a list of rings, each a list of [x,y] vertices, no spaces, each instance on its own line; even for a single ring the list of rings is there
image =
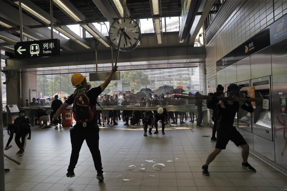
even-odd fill
[[[243,136],[232,126],[230,129],[219,129],[216,134],[216,149],[226,149],[228,141],[232,141],[236,146],[247,144]]]

